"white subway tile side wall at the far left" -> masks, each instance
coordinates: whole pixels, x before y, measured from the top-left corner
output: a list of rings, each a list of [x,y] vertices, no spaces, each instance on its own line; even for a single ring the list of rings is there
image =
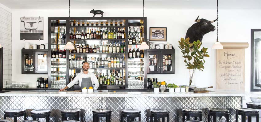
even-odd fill
[[[12,13],[2,7],[0,7],[0,44],[3,47],[3,83],[5,84],[12,80]]]

